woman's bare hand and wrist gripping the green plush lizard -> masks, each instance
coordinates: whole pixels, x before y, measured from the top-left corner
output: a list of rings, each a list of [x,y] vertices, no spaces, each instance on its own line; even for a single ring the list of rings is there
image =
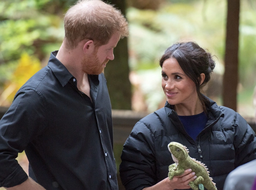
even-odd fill
[[[197,178],[195,172],[191,169],[184,171],[184,174],[180,176],[174,176],[172,180],[168,177],[160,181],[159,183],[144,188],[143,190],[174,190],[174,189],[190,189],[189,182],[194,181]]]

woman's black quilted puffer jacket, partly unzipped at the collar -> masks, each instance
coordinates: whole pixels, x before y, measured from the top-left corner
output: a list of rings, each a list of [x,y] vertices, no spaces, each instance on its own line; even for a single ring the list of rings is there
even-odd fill
[[[121,156],[120,177],[126,189],[141,190],[166,178],[168,166],[174,163],[167,145],[174,141],[185,145],[190,157],[206,164],[217,189],[222,190],[229,172],[256,159],[256,137],[241,115],[212,100],[208,117],[196,141],[168,103],[137,122]]]

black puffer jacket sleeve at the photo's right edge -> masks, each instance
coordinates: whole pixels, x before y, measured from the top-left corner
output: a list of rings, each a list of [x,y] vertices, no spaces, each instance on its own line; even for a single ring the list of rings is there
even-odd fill
[[[235,167],[256,159],[255,132],[238,113],[235,121],[234,147],[236,150]]]

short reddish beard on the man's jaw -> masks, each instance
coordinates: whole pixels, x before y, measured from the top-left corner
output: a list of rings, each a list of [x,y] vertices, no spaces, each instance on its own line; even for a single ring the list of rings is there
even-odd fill
[[[97,57],[98,50],[96,49],[91,57],[84,57],[82,60],[82,70],[84,73],[87,73],[89,75],[99,75],[104,71],[104,64],[107,64],[109,61],[108,59],[105,59],[103,63],[100,62],[100,60]]]

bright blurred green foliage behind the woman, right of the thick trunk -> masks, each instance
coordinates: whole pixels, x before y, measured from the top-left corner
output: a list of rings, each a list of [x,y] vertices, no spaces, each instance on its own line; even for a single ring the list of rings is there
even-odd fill
[[[254,113],[252,93],[256,85],[255,8],[255,1],[241,0],[238,111],[248,116]],[[142,90],[150,111],[157,109],[165,98],[158,60],[167,47],[180,41],[195,41],[216,55],[215,73],[218,75],[213,76],[212,80],[216,80],[220,89],[212,89],[215,97],[211,98],[222,104],[220,91],[224,73],[226,12],[225,0],[170,0],[157,11],[128,8],[130,68],[141,76]]]

